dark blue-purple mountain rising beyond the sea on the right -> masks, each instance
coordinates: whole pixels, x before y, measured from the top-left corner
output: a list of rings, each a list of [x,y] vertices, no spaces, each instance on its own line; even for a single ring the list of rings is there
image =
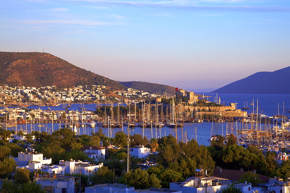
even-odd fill
[[[274,72],[258,72],[212,93],[290,94],[290,66]]]

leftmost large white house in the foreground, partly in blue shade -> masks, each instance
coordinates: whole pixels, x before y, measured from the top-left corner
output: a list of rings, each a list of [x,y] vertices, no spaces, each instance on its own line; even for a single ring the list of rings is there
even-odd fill
[[[28,150],[30,152],[20,152],[18,157],[14,157],[16,164],[18,166],[27,166],[28,162],[39,162],[40,164],[51,164],[51,158],[43,158],[42,153],[37,153],[34,150]]]

